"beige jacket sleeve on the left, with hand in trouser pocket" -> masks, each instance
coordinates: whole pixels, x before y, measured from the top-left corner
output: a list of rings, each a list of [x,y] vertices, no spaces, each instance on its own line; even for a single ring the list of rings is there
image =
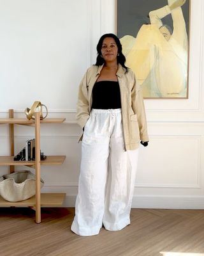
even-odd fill
[[[77,101],[77,124],[84,128],[87,120],[89,119],[89,98],[88,98],[88,86],[87,86],[87,72],[79,86],[78,101]]]

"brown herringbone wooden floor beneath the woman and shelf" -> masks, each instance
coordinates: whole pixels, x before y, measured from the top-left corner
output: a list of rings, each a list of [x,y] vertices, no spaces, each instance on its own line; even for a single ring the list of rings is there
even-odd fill
[[[131,225],[101,228],[98,236],[70,231],[73,208],[44,208],[34,222],[29,208],[0,208],[1,256],[162,256],[160,252],[204,253],[203,210],[132,209]],[[172,256],[180,256],[172,254]],[[195,254],[203,255],[203,254]],[[169,254],[168,254],[169,256]],[[171,256],[171,254],[170,254]]]

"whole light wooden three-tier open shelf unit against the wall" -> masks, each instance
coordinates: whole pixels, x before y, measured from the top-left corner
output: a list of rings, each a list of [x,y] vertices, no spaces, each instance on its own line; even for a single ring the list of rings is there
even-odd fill
[[[15,166],[29,166],[35,169],[36,173],[36,195],[21,202],[8,202],[0,196],[0,207],[33,207],[36,211],[36,223],[41,222],[41,207],[59,207],[62,205],[65,193],[41,193],[41,164],[56,165],[62,164],[66,156],[47,156],[47,159],[40,161],[40,125],[61,124],[65,118],[45,118],[40,120],[40,113],[35,113],[35,120],[27,118],[14,118],[13,109],[9,110],[9,118],[0,118],[0,124],[8,124],[10,128],[10,156],[0,156],[0,166],[10,166],[10,173],[15,172]],[[14,156],[14,125],[30,125],[35,129],[35,161],[13,161]]]

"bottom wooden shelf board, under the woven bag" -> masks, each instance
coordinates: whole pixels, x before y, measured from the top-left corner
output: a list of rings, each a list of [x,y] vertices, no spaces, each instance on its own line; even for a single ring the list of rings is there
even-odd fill
[[[59,207],[63,204],[66,193],[41,193],[41,207]],[[33,207],[35,196],[20,202],[8,202],[0,196],[0,207]]]

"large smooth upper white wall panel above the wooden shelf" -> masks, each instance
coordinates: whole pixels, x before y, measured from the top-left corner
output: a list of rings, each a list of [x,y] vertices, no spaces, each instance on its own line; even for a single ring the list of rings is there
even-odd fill
[[[0,108],[24,109],[41,100],[49,109],[75,109],[89,60],[87,1],[0,5]]]

